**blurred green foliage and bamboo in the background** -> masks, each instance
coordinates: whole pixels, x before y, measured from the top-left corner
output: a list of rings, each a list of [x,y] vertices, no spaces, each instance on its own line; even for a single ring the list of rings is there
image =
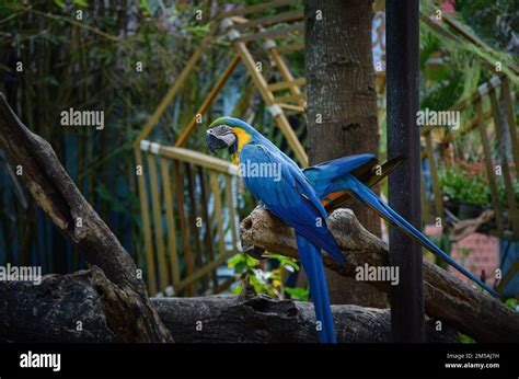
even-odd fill
[[[209,21],[222,11],[260,2],[4,0],[0,3],[1,91],[22,122],[51,143],[86,199],[139,266],[145,265],[146,260],[131,143],[208,32]],[[422,23],[420,108],[448,110],[488,81],[494,72],[484,67],[481,57],[499,60],[504,67],[518,61],[517,1],[420,1],[420,4],[425,13],[432,13],[434,5],[442,7],[447,13],[455,8],[457,20],[492,47],[489,53],[471,44],[457,44]],[[302,2],[291,5],[296,10],[302,10]],[[383,1],[377,1],[376,7],[383,8]],[[203,20],[197,20],[199,10]],[[265,15],[273,13],[275,10],[264,12]],[[81,20],[78,20],[79,15]],[[152,135],[154,141],[173,145],[232,53],[226,42],[216,41],[209,45],[195,74],[189,77],[161,117]],[[264,54],[255,53],[260,57]],[[383,51],[379,54],[383,60]],[[22,71],[18,71],[19,62]],[[304,76],[302,51],[293,53],[290,69],[297,78]],[[268,77],[268,71],[264,74]],[[510,74],[510,78],[517,84],[517,77]],[[103,110],[104,130],[61,126],[59,114],[70,107]],[[383,91],[379,107],[382,136],[379,154],[383,158]],[[272,123],[265,111],[251,78],[239,68],[204,120],[231,114],[254,125],[267,126]],[[517,112],[515,114],[517,116]],[[473,110],[464,112],[462,125],[474,116]],[[297,126],[304,145],[304,119],[292,119],[292,125]],[[188,148],[206,152],[200,131],[191,138]],[[262,131],[284,147],[282,136],[276,129]],[[478,142],[473,135],[466,134],[455,143],[463,150],[464,161],[481,162]],[[469,184],[477,187],[481,181],[483,190],[468,190],[469,184],[463,183],[468,176],[460,172],[441,173],[446,195],[488,205],[484,179],[476,173]],[[429,175],[427,168],[425,174]],[[385,193],[387,188],[382,186],[381,191]],[[84,267],[80,252],[59,236],[28,196],[25,190],[16,190],[15,177],[0,166],[0,263],[26,265],[39,262],[45,273],[67,273]],[[241,218],[255,206],[246,191],[239,192],[238,204]],[[297,269],[293,262],[276,259],[281,266],[291,267],[287,269]],[[240,276],[253,273],[252,276],[258,278],[253,283],[257,291],[282,296],[277,268],[256,273],[257,261],[251,260],[240,254],[229,266]],[[289,291],[298,298],[307,296],[301,289]]]

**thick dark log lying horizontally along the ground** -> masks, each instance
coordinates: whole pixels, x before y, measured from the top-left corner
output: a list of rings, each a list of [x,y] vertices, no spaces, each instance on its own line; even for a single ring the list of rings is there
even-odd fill
[[[0,342],[116,342],[99,291],[92,288],[97,275],[83,271],[47,275],[41,285],[0,283]],[[152,303],[180,343],[318,342],[310,302],[228,295],[155,298]],[[333,306],[333,312],[338,341],[390,341],[389,310]],[[427,338],[457,342],[458,333],[436,331],[428,320]]]

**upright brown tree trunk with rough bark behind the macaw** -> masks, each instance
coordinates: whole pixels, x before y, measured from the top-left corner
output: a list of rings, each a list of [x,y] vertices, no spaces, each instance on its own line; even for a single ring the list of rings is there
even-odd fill
[[[310,164],[379,150],[372,18],[368,0],[305,1]],[[372,213],[357,205],[353,210],[369,231],[380,236],[380,221]],[[373,288],[330,271],[326,275],[333,303],[385,306],[385,296]],[[344,291],[346,285],[350,290]]]

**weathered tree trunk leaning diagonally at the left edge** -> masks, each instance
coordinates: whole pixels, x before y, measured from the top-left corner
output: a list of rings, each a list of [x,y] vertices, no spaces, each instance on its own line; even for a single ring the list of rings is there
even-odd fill
[[[0,93],[0,148],[59,231],[95,265],[107,323],[120,342],[172,342],[130,255],[67,174],[50,145],[31,133]]]

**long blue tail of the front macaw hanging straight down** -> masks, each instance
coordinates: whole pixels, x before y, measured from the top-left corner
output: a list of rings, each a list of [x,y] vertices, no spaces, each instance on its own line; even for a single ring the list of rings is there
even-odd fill
[[[336,343],[337,338],[333,325],[332,307],[324,276],[321,250],[298,233],[296,233],[296,239],[299,257],[310,285],[310,295],[315,308],[315,319],[321,321],[322,328],[319,331],[319,341],[322,343]]]

